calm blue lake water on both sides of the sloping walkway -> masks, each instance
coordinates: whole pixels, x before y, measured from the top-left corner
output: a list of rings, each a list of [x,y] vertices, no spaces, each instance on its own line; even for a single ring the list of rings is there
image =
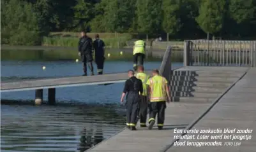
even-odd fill
[[[104,72],[125,72],[132,65],[106,62]],[[173,64],[178,66],[182,64]],[[1,62],[1,81],[80,75],[80,62]],[[34,91],[1,93],[1,151],[85,151],[124,127],[124,106],[119,104],[123,85],[57,88],[56,106],[34,106]],[[47,90],[43,96],[47,100]]]

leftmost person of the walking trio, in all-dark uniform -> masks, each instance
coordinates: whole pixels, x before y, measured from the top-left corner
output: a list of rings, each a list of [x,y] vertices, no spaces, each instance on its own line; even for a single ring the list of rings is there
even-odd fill
[[[134,76],[134,71],[128,71],[129,79],[124,84],[124,90],[121,97],[123,102],[124,96],[126,96],[126,127],[131,130],[136,130],[136,123],[139,115],[139,102],[140,94],[143,93],[142,81]]]

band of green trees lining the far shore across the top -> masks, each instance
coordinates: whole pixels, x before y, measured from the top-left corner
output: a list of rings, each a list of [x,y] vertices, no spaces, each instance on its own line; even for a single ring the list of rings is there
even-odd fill
[[[172,38],[255,38],[255,0],[2,0],[1,43],[36,45],[49,32],[133,32]],[[145,38],[145,37],[144,37]]]

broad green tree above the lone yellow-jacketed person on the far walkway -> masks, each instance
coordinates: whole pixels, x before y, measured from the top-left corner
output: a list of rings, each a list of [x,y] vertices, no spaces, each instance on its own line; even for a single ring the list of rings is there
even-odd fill
[[[157,34],[161,31],[162,1],[137,0],[136,8],[139,32]]]

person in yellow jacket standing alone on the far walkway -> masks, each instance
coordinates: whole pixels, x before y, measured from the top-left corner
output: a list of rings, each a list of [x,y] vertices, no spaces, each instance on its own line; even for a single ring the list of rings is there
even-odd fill
[[[145,48],[146,48],[145,41],[143,41],[142,39],[135,41],[134,46],[133,46],[133,69],[134,69],[134,71],[137,70],[138,60],[139,60],[139,65],[143,66],[143,62],[145,59]]]

